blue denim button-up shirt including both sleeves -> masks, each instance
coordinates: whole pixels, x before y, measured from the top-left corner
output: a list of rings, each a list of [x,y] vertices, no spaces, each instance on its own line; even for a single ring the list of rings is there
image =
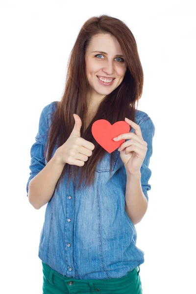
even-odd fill
[[[30,149],[27,196],[29,181],[47,164],[44,147],[55,109],[55,103],[51,102],[41,112],[36,142]],[[148,200],[147,191],[151,189],[148,165],[155,127],[148,115],[139,110],[136,112],[136,123],[140,125],[147,142],[147,154],[141,167],[141,184]],[[57,145],[53,154],[56,148]],[[144,263],[144,251],[136,246],[135,225],[124,209],[125,168],[118,148],[114,152],[112,170],[110,153],[107,152],[103,160],[98,162],[95,183],[91,188],[75,191],[73,181],[70,181],[66,192],[66,176],[64,185],[59,187],[58,192],[54,190],[47,203],[38,256],[53,270],[67,277],[120,278]]]

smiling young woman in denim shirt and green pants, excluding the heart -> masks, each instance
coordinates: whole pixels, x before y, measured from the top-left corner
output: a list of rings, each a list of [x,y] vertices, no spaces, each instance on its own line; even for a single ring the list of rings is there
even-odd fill
[[[106,15],[85,22],[64,95],[42,110],[30,150],[29,202],[48,203],[38,254],[44,294],[142,293],[135,224],[147,211],[155,132],[135,107],[143,80],[130,29]],[[92,135],[100,119],[130,125],[111,153]]]

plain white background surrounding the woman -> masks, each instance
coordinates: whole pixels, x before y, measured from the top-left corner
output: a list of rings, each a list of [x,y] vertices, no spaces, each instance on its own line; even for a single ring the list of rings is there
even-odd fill
[[[60,100],[84,22],[107,14],[135,36],[138,109],[155,124],[149,202],[136,224],[144,294],[196,293],[196,10],[194,1],[0,1],[1,293],[42,294],[46,205],[28,202],[30,147],[42,109]]]

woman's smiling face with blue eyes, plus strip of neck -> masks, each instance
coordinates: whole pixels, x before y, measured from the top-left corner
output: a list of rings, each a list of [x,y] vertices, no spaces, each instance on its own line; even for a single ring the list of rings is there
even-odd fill
[[[86,74],[91,85],[87,99],[92,110],[122,83],[126,62],[120,55],[123,55],[121,46],[113,35],[99,34],[92,38],[85,53]],[[98,76],[105,82],[100,81]],[[111,78],[114,80],[107,83]]]

